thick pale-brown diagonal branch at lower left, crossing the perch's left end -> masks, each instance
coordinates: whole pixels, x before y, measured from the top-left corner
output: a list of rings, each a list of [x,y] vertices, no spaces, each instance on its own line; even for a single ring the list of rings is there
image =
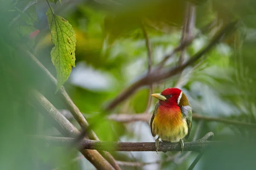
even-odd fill
[[[58,129],[63,136],[76,137],[79,130],[72,125],[40,92],[33,90],[31,102]],[[73,140],[73,138],[71,138]],[[71,141],[70,141],[71,142]],[[72,141],[73,142],[73,141]],[[80,152],[99,170],[114,170],[97,150],[81,149]]]

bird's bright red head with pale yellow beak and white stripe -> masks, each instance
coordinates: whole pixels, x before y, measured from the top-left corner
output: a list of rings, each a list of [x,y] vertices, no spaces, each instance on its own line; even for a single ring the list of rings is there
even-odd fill
[[[175,105],[180,106],[181,98],[184,98],[183,96],[185,96],[183,92],[178,88],[166,88],[161,92],[161,94],[151,95],[159,99],[160,105],[164,105],[167,107],[172,107]]]

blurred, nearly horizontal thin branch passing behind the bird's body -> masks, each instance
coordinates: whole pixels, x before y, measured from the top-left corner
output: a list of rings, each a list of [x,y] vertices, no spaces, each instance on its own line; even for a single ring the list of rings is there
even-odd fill
[[[151,115],[145,114],[145,113],[137,113],[137,114],[111,114],[108,116],[108,119],[116,121],[116,122],[122,122],[122,123],[131,123],[136,121],[148,121],[150,119]],[[222,119],[218,117],[209,117],[209,116],[203,116],[196,113],[193,113],[192,115],[193,120],[204,120],[207,122],[221,122],[224,124],[229,125],[240,125],[245,127],[251,127],[256,128],[256,124],[253,123],[247,123],[247,122],[239,122],[236,120],[229,120],[229,119]]]

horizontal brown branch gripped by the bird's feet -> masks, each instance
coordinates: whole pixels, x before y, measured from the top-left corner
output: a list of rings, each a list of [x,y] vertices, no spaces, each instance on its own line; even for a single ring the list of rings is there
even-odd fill
[[[211,132],[212,133],[212,132]],[[208,134],[208,133],[207,133]],[[43,139],[52,146],[70,146],[73,138],[35,136],[37,139]],[[199,139],[194,142],[185,142],[184,151],[201,152],[204,148],[219,144],[221,141],[207,141]],[[156,151],[155,142],[108,142],[83,139],[79,147],[87,150],[105,150],[105,151]],[[159,151],[181,151],[180,143],[160,142]]]

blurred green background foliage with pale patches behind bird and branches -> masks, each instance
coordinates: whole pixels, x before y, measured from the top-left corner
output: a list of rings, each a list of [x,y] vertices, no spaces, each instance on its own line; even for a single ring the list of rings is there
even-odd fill
[[[199,33],[200,36],[186,48],[185,59],[207,44],[218,28],[233,20],[239,20],[239,23],[228,39],[186,68],[180,78],[177,76],[154,85],[154,92],[161,92],[179,82],[196,113],[256,123],[256,1],[188,1],[197,4],[192,34]],[[93,127],[99,139],[122,142],[154,140],[145,122],[127,125],[98,117],[102,116],[100,113],[108,102],[147,72],[148,57],[141,24],[145,24],[148,32],[152,61],[156,65],[180,44],[188,1],[62,0],[60,3],[51,0],[57,2],[52,4],[55,13],[67,19],[76,32],[77,67],[73,68],[64,86],[89,123],[100,121]],[[56,77],[50,57],[53,44],[45,14],[49,7],[44,0],[38,0],[36,4],[33,2],[0,0],[0,132],[3,136],[0,141],[0,169],[93,169],[85,159],[71,161],[79,156],[75,150],[38,146],[25,136],[61,136],[40,111],[31,106],[29,91],[32,88],[41,91],[56,108],[67,109],[54,94],[55,85],[25,53],[29,50],[36,54]],[[203,31],[209,23],[215,25]],[[34,36],[34,33],[38,34]],[[165,67],[176,66],[179,56],[177,53],[169,59]],[[148,105],[148,95],[148,87],[139,89],[113,113],[143,113]],[[155,102],[154,99],[150,111],[153,111]],[[197,122],[194,121],[189,141],[196,127]],[[215,140],[246,141],[256,137],[253,129],[217,122],[204,122],[198,137],[209,131],[215,133]],[[228,143],[208,150],[195,169],[253,169],[253,153],[253,143]],[[174,153],[132,154],[135,161],[149,162],[164,160],[168,154]],[[128,153],[113,155],[117,160],[134,161]],[[159,167],[150,164],[144,169],[186,169],[195,156],[190,155],[181,164],[171,161]]]

